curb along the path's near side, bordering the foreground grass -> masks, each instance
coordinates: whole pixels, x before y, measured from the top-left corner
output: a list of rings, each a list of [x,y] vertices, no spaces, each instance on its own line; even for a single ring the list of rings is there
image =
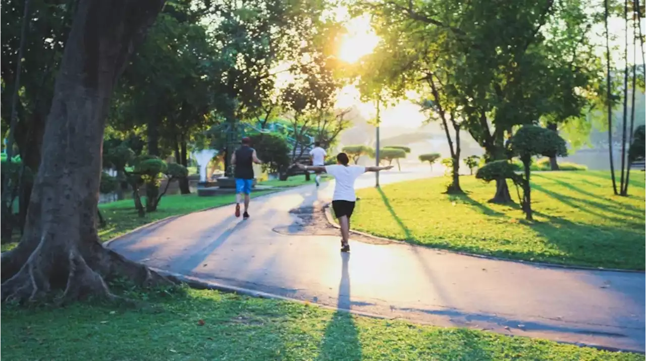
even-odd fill
[[[340,308],[340,307],[334,307],[334,306],[329,306],[329,305],[323,305],[323,304],[318,304],[316,302],[308,302],[304,300],[298,300],[297,298],[290,298],[287,296],[280,296],[279,294],[274,294],[274,293],[267,293],[267,292],[262,292],[262,291],[255,291],[253,289],[248,289],[244,287],[236,287],[236,286],[230,286],[230,285],[225,285],[225,284],[220,284],[218,282],[213,282],[213,281],[204,281],[200,280],[200,278],[196,277],[191,277],[191,276],[186,276],[185,274],[181,273],[174,273],[170,271],[164,271],[163,269],[158,269],[155,267],[149,267],[152,271],[155,271],[156,273],[160,273],[163,276],[171,277],[174,278],[175,280],[181,282],[182,284],[185,284],[192,289],[208,289],[208,290],[213,290],[213,291],[220,291],[223,293],[234,293],[234,294],[242,294],[244,296],[249,296],[253,298],[265,298],[269,300],[280,300],[280,301],[286,301],[286,302],[294,302],[297,304],[301,305],[306,305],[308,307],[317,307],[320,309],[326,309],[328,311],[339,311],[339,312],[344,312],[348,313],[350,315],[356,315],[356,316],[362,316],[362,317],[367,317],[367,318],[373,318],[376,320],[391,320],[391,321],[403,321],[403,322],[409,322],[410,324],[416,324],[416,325],[430,325],[433,327],[437,328],[443,328],[443,329],[449,329],[449,328],[467,328],[471,329],[470,327],[459,327],[459,326],[439,326],[439,325],[434,325],[431,322],[423,322],[423,321],[415,321],[415,320],[410,320],[407,318],[401,318],[401,317],[391,317],[391,316],[385,316],[385,315],[379,315],[376,313],[369,313],[369,312],[364,312],[364,311],[356,311],[353,309],[345,309],[345,308]],[[509,336],[509,337],[522,337],[522,338],[532,338],[530,336],[519,336],[519,335],[508,335],[505,333],[498,333],[495,331],[487,331],[487,330],[479,330],[483,332],[490,332],[490,333],[495,333],[496,335],[503,335],[503,336]],[[536,340],[537,338],[532,338]],[[543,340],[543,339],[541,339]],[[548,340],[548,339],[546,339]],[[646,355],[646,351],[638,351],[638,350],[632,350],[632,349],[621,349],[618,347],[608,347],[608,346],[600,346],[600,345],[595,345],[595,344],[585,344],[583,342],[565,342],[565,341],[556,341],[556,340],[548,340],[550,342],[556,342],[557,344],[561,345],[570,345],[570,346],[577,346],[577,347],[590,347],[592,349],[598,349],[599,351],[608,351],[608,352],[613,352],[613,353],[634,353],[638,355]]]

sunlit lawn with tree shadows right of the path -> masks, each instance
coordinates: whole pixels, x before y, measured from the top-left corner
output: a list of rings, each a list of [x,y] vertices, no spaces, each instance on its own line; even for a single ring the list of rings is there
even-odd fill
[[[495,185],[461,177],[465,196],[442,194],[446,178],[358,192],[358,231],[468,253],[570,265],[646,270],[646,183],[612,195],[608,172],[532,174],[536,222],[517,206],[487,203]],[[510,189],[517,200],[516,189]]]

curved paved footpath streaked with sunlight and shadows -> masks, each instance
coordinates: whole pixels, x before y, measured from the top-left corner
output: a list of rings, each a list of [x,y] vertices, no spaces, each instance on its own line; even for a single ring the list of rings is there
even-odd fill
[[[382,172],[382,183],[428,176],[428,167]],[[358,186],[370,187],[366,174]],[[646,352],[646,274],[585,271],[488,260],[401,243],[272,231],[298,222],[290,209],[329,200],[333,184],[195,212],[126,234],[107,247],[131,260],[226,287],[240,287],[387,318],[488,329],[609,349]],[[411,205],[414,207],[414,205]],[[432,215],[429,216],[432,222]]]

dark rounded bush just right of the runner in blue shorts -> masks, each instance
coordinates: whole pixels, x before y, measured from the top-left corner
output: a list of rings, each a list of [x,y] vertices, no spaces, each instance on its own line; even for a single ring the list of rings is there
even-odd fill
[[[280,134],[256,134],[251,136],[253,148],[264,162],[262,170],[269,173],[285,172],[291,165],[289,143]]]

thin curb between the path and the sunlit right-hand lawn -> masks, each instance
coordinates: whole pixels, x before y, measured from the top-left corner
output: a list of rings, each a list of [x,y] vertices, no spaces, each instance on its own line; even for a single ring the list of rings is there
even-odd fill
[[[337,223],[334,220],[334,217],[332,216],[332,213],[329,210],[330,205],[331,205],[331,203],[327,203],[326,205],[323,206],[323,211],[325,213],[326,219],[328,220],[328,223],[332,227],[335,227],[336,229],[341,229],[341,227],[339,226],[339,223]],[[589,267],[589,266],[583,266],[583,265],[561,265],[561,264],[558,264],[558,263],[532,262],[532,261],[525,261],[525,260],[515,260],[513,258],[487,256],[486,254],[468,253],[468,252],[463,252],[463,251],[442,249],[442,248],[430,247],[430,246],[425,246],[425,245],[416,245],[416,244],[404,242],[404,241],[401,241],[401,240],[391,240],[390,238],[384,238],[384,237],[380,237],[380,236],[375,236],[374,234],[370,234],[370,233],[366,233],[366,232],[354,231],[352,229],[350,230],[350,233],[359,234],[360,236],[372,238],[373,240],[379,240],[379,241],[382,241],[382,242],[390,242],[390,243],[399,244],[399,245],[407,245],[409,247],[422,247],[422,248],[425,248],[425,249],[432,249],[433,251],[453,253],[453,254],[461,254],[462,256],[483,258],[485,260],[492,260],[492,261],[514,262],[514,263],[521,263],[521,264],[524,264],[524,265],[533,265],[533,266],[536,266],[536,267],[543,267],[543,268],[570,269],[572,271],[579,270],[579,271],[599,271],[599,272],[621,272],[621,273],[646,274],[646,271],[641,271],[641,270],[638,270],[638,269]]]

